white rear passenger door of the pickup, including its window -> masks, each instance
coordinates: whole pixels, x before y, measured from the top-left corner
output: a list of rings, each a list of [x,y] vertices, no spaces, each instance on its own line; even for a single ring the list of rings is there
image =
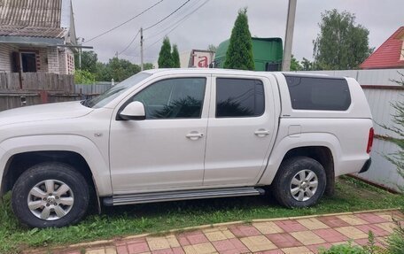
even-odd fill
[[[204,185],[259,181],[275,141],[275,86],[266,77],[213,77]]]

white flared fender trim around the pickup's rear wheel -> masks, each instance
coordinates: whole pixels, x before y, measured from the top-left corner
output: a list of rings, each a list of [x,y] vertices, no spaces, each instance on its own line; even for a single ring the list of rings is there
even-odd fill
[[[337,136],[330,133],[302,133],[299,137],[285,136],[279,142],[276,142],[269,156],[267,167],[258,184],[271,184],[286,153],[289,150],[307,146],[323,146],[330,149],[334,160],[334,172],[337,174],[339,169],[338,158],[341,157],[341,146]]]

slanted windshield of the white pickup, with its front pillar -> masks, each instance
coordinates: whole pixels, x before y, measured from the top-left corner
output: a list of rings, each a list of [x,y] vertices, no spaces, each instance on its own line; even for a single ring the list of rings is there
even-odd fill
[[[110,103],[114,98],[120,96],[128,89],[135,86],[140,81],[144,81],[151,76],[151,73],[137,73],[118,85],[106,90],[102,95],[82,101],[82,104],[89,108],[101,108]]]

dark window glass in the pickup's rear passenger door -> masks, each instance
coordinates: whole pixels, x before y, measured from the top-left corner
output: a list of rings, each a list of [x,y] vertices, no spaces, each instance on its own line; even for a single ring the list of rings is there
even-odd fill
[[[216,118],[258,117],[264,111],[262,81],[216,79]]]

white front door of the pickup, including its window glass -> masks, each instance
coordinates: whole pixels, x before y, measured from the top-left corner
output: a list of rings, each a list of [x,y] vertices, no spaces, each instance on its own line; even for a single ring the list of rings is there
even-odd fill
[[[209,77],[155,81],[130,101],[144,120],[112,120],[113,193],[192,189],[202,185]]]

